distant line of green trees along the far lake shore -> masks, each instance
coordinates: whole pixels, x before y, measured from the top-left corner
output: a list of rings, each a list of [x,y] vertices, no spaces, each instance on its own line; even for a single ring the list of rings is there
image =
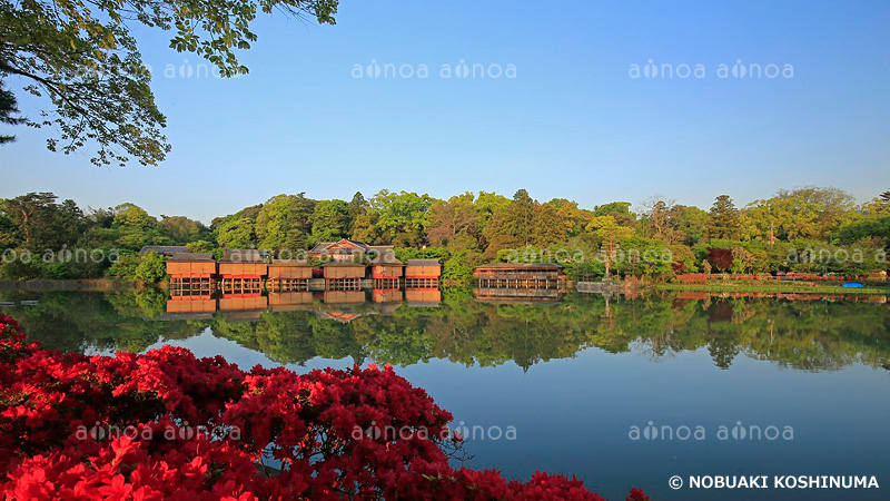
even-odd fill
[[[151,282],[162,276],[161,262],[137,256],[145,245],[295,255],[343,237],[395,245],[400,258],[439,258],[446,279],[465,279],[482,263],[517,259],[555,261],[570,276],[611,272],[653,279],[683,272],[858,274],[886,268],[890,193],[857,204],[838,188],[803,187],[741,208],[726,195],[708,210],[659,195],[636,212],[631,206],[611,202],[582,208],[564,198],[542,203],[525,189],[512,198],[481,191],[447,200],[388,190],[370,198],[356,193],[348,202],[297,194],[217,217],[208,227],[185,216],[155,217],[134,204],[85,210],[51,193],[30,193],[0,199],[0,276],[111,275]]]

